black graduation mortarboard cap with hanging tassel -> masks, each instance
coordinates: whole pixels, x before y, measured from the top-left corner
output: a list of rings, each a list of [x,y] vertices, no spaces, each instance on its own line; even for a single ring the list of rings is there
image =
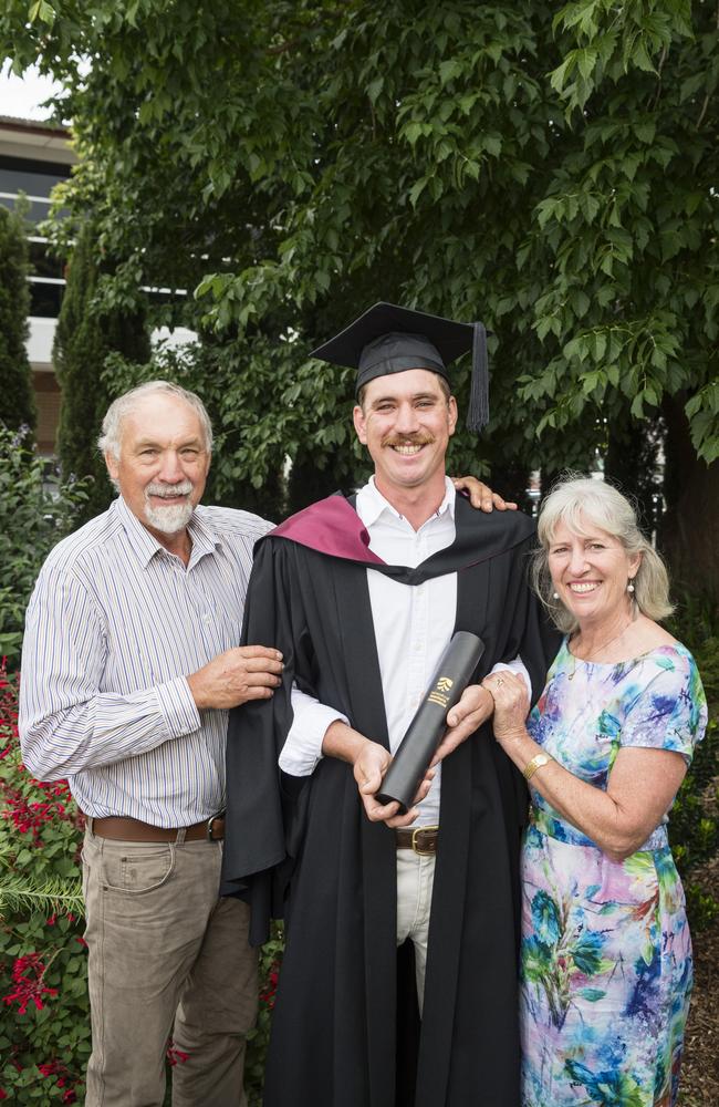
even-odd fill
[[[364,384],[387,373],[428,369],[451,385],[447,366],[472,351],[472,384],[467,426],[479,432],[489,421],[487,331],[483,323],[457,323],[441,315],[375,303],[329,342],[313,350],[312,358],[357,371],[357,393]]]

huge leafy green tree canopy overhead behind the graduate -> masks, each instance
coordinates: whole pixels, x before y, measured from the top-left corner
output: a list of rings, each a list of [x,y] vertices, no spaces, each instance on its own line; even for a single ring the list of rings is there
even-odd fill
[[[236,458],[243,478],[277,470],[280,431],[301,466],[362,472],[351,374],[306,354],[375,299],[479,315],[492,421],[479,446],[457,436],[451,464],[520,483],[538,464],[585,467],[615,426],[661,412],[663,490],[686,536],[675,562],[700,558],[717,580],[719,544],[707,560],[673,493],[716,498],[712,6],[43,0],[30,22],[23,0],[6,9],[17,64],[66,80],[83,162],[62,203],[92,209],[124,259],[103,296],[200,282],[163,311],[200,313],[227,352],[225,411],[253,446]]]

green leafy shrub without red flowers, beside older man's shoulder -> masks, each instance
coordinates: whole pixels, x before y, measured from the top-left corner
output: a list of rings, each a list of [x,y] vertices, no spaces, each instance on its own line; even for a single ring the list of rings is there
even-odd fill
[[[86,483],[61,483],[27,436],[0,423],[0,655],[20,659],[25,607],[45,557],[75,525]]]

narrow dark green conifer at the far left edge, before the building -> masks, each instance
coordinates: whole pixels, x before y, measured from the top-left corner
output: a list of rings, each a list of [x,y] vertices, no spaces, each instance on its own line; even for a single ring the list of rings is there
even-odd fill
[[[30,263],[22,207],[10,211],[0,206],[0,422],[34,430],[38,413],[25,348]]]

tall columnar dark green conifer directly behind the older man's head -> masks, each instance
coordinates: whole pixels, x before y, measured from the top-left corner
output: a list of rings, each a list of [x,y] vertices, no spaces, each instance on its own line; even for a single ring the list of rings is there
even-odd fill
[[[105,510],[113,497],[105,463],[96,447],[110,403],[103,384],[107,355],[149,356],[142,302],[123,310],[97,301],[101,258],[91,223],[80,230],[66,269],[67,284],[60,309],[53,363],[62,389],[58,455],[65,477],[91,477],[92,484],[79,521]]]

